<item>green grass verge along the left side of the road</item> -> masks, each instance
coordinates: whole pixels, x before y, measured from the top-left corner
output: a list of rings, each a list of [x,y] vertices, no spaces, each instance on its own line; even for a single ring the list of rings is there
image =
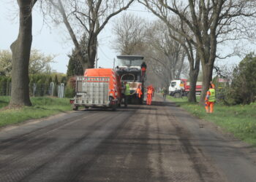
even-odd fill
[[[0,97],[0,108],[7,106],[9,100],[10,97]],[[0,111],[0,127],[72,110],[69,98],[31,98],[31,103],[31,107]]]

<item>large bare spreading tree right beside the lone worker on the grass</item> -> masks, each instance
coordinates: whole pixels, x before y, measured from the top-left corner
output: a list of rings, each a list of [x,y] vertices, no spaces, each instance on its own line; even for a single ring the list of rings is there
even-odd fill
[[[202,63],[203,92],[200,103],[203,103],[208,84],[212,79],[217,43],[225,41],[218,38],[221,38],[222,34],[233,33],[236,30],[240,30],[240,33],[247,31],[244,17],[255,15],[256,2],[253,0],[139,1],[165,22],[170,20],[167,12],[171,12],[192,32],[193,36],[189,36],[169,23],[174,31],[184,36],[195,47],[196,58]]]

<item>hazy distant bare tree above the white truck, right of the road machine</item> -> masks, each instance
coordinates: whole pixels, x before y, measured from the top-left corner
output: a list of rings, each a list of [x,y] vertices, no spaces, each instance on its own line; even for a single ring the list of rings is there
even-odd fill
[[[184,62],[185,54],[181,44],[172,39],[167,25],[162,22],[154,22],[146,31],[146,44],[148,45],[150,58],[160,63],[167,70],[168,82],[178,79]],[[154,54],[150,53],[154,50]]]

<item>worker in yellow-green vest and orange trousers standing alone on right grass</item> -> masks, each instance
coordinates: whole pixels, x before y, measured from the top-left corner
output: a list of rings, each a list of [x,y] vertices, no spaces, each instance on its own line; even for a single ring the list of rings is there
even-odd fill
[[[206,92],[206,99],[205,99],[205,107],[206,113],[213,113],[214,112],[214,102],[215,102],[215,85],[210,82],[209,90]]]

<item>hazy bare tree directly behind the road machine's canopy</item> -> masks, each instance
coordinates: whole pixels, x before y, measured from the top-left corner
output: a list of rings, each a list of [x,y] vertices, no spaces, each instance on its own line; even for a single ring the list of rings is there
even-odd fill
[[[146,20],[124,13],[113,26],[113,48],[121,55],[136,55],[143,52]]]

